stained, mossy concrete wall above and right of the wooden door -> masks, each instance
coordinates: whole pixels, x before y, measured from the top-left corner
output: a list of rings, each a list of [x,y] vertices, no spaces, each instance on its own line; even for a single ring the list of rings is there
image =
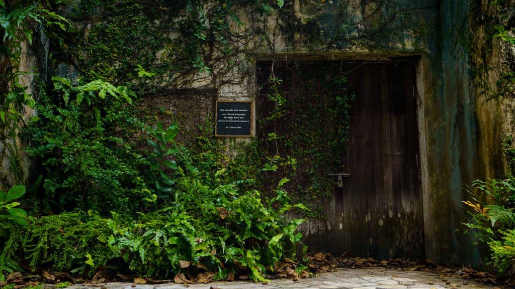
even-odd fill
[[[306,4],[307,3],[307,4]],[[388,24],[372,38],[361,39],[360,29],[380,25],[367,15],[370,1],[327,1],[324,4],[295,1],[293,11],[302,20],[313,6],[318,10],[322,39],[294,33],[284,37],[280,16],[269,20],[268,33],[275,35],[274,53],[267,48],[258,59],[287,60],[348,59],[352,61],[394,61],[419,56],[417,69],[418,118],[421,153],[421,187],[424,209],[425,254],[436,262],[484,265],[482,252],[472,233],[465,233],[468,200],[464,189],[474,179],[501,177],[502,106],[489,99],[473,78],[471,58],[482,51],[477,42],[486,41],[484,31],[471,31],[472,7],[467,1],[395,1],[402,17]],[[385,12],[386,13],[386,12]],[[381,16],[378,16],[381,17]],[[371,19],[372,18],[372,19]],[[397,22],[396,22],[397,21]],[[352,26],[354,25],[354,26]],[[378,29],[380,27],[378,26]],[[348,31],[349,35],[336,33]],[[477,33],[477,34],[476,34]],[[352,35],[356,35],[353,37]],[[318,39],[320,39],[318,38]],[[502,59],[495,49],[487,56]],[[496,80],[496,66],[488,72]],[[364,217],[365,218],[365,217]]]

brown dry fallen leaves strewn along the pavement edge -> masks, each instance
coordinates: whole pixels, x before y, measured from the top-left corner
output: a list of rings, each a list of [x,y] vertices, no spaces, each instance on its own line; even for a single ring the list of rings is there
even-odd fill
[[[108,267],[99,267],[91,280],[84,279],[81,276],[71,277],[67,273],[52,272],[47,270],[40,270],[39,274],[21,272],[14,272],[7,276],[6,281],[2,282],[0,286],[5,284],[14,284],[14,288],[23,288],[34,286],[40,283],[57,284],[60,282],[70,282],[71,284],[82,283],[90,286],[103,286],[106,282],[132,282],[135,284],[160,284],[175,282],[178,284],[194,284],[194,283],[209,283],[213,281],[215,276],[214,272],[205,270],[205,265],[199,263],[194,265],[190,261],[180,261],[181,268],[185,273],[175,275],[173,280],[154,280],[151,278],[143,278],[132,275],[125,275],[115,270],[110,270]],[[420,272],[433,272],[438,273],[442,281],[448,281],[448,278],[461,277],[476,282],[482,282],[493,286],[508,285],[515,287],[515,280],[508,279],[506,276],[496,276],[488,272],[475,270],[468,266],[452,267],[446,265],[438,265],[431,260],[410,260],[410,259],[387,259],[375,260],[370,257],[354,257],[350,252],[335,257],[329,253],[316,252],[309,253],[304,256],[302,262],[297,262],[288,258],[282,259],[281,262],[273,268],[273,275],[266,276],[267,279],[303,279],[316,276],[316,274],[323,272],[332,272],[338,269],[358,269],[367,267],[384,267],[387,269],[398,269],[405,271],[420,271]],[[268,268],[270,269],[270,268]],[[196,272],[196,273],[191,273]],[[234,280],[248,280],[249,270],[241,270],[240,272],[230,272],[225,281]],[[265,282],[266,283],[266,282]],[[467,282],[464,281],[464,284]]]

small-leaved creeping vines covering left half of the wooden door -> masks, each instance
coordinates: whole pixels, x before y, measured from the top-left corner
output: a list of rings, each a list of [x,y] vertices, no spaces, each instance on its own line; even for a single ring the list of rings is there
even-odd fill
[[[259,124],[263,132],[260,147],[265,151],[261,154],[264,173],[258,180],[259,186],[269,188],[270,183],[279,182],[286,174],[293,180],[288,189],[295,192],[294,200],[311,203],[332,195],[334,177],[329,173],[349,170],[345,167],[347,164],[335,156],[342,155],[349,138],[354,93],[347,79],[337,74],[334,65],[310,67],[317,73],[335,73],[328,81],[316,74],[301,72],[303,67],[299,64],[285,69],[289,73],[281,78],[273,74],[268,77],[262,88],[262,94],[269,101],[264,105],[267,115],[261,116],[264,120]],[[282,67],[269,69],[278,68]],[[293,83],[302,83],[302,88],[297,89]],[[320,214],[311,210],[309,215]]]

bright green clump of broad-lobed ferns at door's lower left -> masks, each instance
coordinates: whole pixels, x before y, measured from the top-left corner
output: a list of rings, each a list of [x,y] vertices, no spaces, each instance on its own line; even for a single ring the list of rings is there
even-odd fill
[[[180,261],[187,261],[218,272],[218,279],[243,269],[263,281],[267,266],[294,255],[301,238],[295,229],[302,220],[285,221],[283,213],[291,206],[284,191],[265,205],[257,191],[237,191],[234,184],[211,188],[187,175],[177,184],[181,189],[173,206],[130,223],[115,215],[109,224],[110,246],[136,273],[166,276],[180,272]]]

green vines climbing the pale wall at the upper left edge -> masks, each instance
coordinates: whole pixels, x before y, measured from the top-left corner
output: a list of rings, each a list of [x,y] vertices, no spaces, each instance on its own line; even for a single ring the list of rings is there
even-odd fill
[[[64,29],[67,20],[46,9],[41,2],[0,2],[0,188],[23,182],[24,172],[17,141],[20,125],[28,121],[35,104],[32,93],[31,63],[22,63],[22,55],[33,43],[33,35],[42,27]],[[9,175],[10,174],[10,175]]]

